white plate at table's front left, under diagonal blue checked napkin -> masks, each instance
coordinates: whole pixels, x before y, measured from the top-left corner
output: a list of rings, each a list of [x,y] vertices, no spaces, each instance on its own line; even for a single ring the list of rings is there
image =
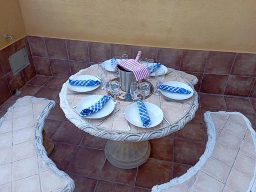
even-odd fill
[[[77,103],[77,107],[76,110],[78,112],[78,114],[80,114],[80,112],[83,109],[86,109],[88,107],[91,107],[92,105],[94,105],[95,103],[97,103],[100,98],[102,98],[104,95],[90,95],[86,98],[83,98],[81,101],[79,101]],[[99,110],[97,113],[92,113],[88,116],[86,116],[86,118],[102,118],[106,115],[109,115],[115,108],[115,103],[112,99],[110,99],[108,102],[106,102],[106,104],[104,105],[104,107],[102,107],[101,110]]]

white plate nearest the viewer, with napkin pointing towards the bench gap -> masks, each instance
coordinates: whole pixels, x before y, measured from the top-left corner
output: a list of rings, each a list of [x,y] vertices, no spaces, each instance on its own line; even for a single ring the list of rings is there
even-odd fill
[[[146,106],[148,115],[150,115],[150,127],[144,127],[141,123],[139,108],[137,103],[132,103],[125,108],[124,116],[131,124],[141,128],[155,127],[163,121],[163,111],[156,105],[143,102]]]

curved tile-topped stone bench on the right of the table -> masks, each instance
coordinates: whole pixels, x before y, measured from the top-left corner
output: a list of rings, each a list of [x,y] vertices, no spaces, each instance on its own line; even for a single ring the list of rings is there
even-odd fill
[[[195,166],[152,191],[256,191],[256,135],[239,112],[205,112],[208,141]]]

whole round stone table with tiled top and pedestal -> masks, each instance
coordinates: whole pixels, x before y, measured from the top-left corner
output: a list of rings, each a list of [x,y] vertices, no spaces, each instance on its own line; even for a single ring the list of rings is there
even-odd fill
[[[194,85],[198,79],[186,74],[182,71],[168,68],[171,71],[165,75],[164,82],[179,81],[190,85],[194,89]],[[97,76],[97,65],[80,70],[77,75],[94,75]],[[114,79],[114,73],[108,72],[108,76]],[[155,86],[155,79],[151,77],[151,83]],[[120,109],[116,114],[111,115],[100,126],[97,124],[102,119],[89,119],[78,115],[76,108],[73,108],[84,97],[92,94],[106,94],[105,90],[97,88],[90,93],[77,93],[68,88],[68,81],[62,85],[59,93],[60,107],[66,114],[66,117],[79,129],[94,135],[109,139],[105,146],[106,158],[115,166],[122,169],[132,169],[143,164],[150,156],[149,139],[164,137],[170,133],[178,131],[184,127],[186,123],[191,121],[198,109],[198,94],[194,89],[193,97],[182,100],[172,101],[163,97],[152,94],[145,101],[159,106],[166,119],[170,123],[167,124],[163,120],[154,128],[139,128],[129,123],[131,131],[127,128],[127,121],[122,114],[123,109],[131,104],[130,102],[120,101],[116,109]]]

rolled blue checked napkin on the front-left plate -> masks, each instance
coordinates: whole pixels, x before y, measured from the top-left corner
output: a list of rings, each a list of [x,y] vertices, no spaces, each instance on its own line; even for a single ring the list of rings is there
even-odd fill
[[[111,98],[111,95],[104,95],[97,103],[95,103],[94,105],[92,105],[91,107],[88,107],[86,109],[83,109],[81,112],[80,112],[80,116],[88,116],[92,113],[96,113],[98,112],[99,110],[101,110],[104,105],[106,104],[106,102],[108,102]]]

